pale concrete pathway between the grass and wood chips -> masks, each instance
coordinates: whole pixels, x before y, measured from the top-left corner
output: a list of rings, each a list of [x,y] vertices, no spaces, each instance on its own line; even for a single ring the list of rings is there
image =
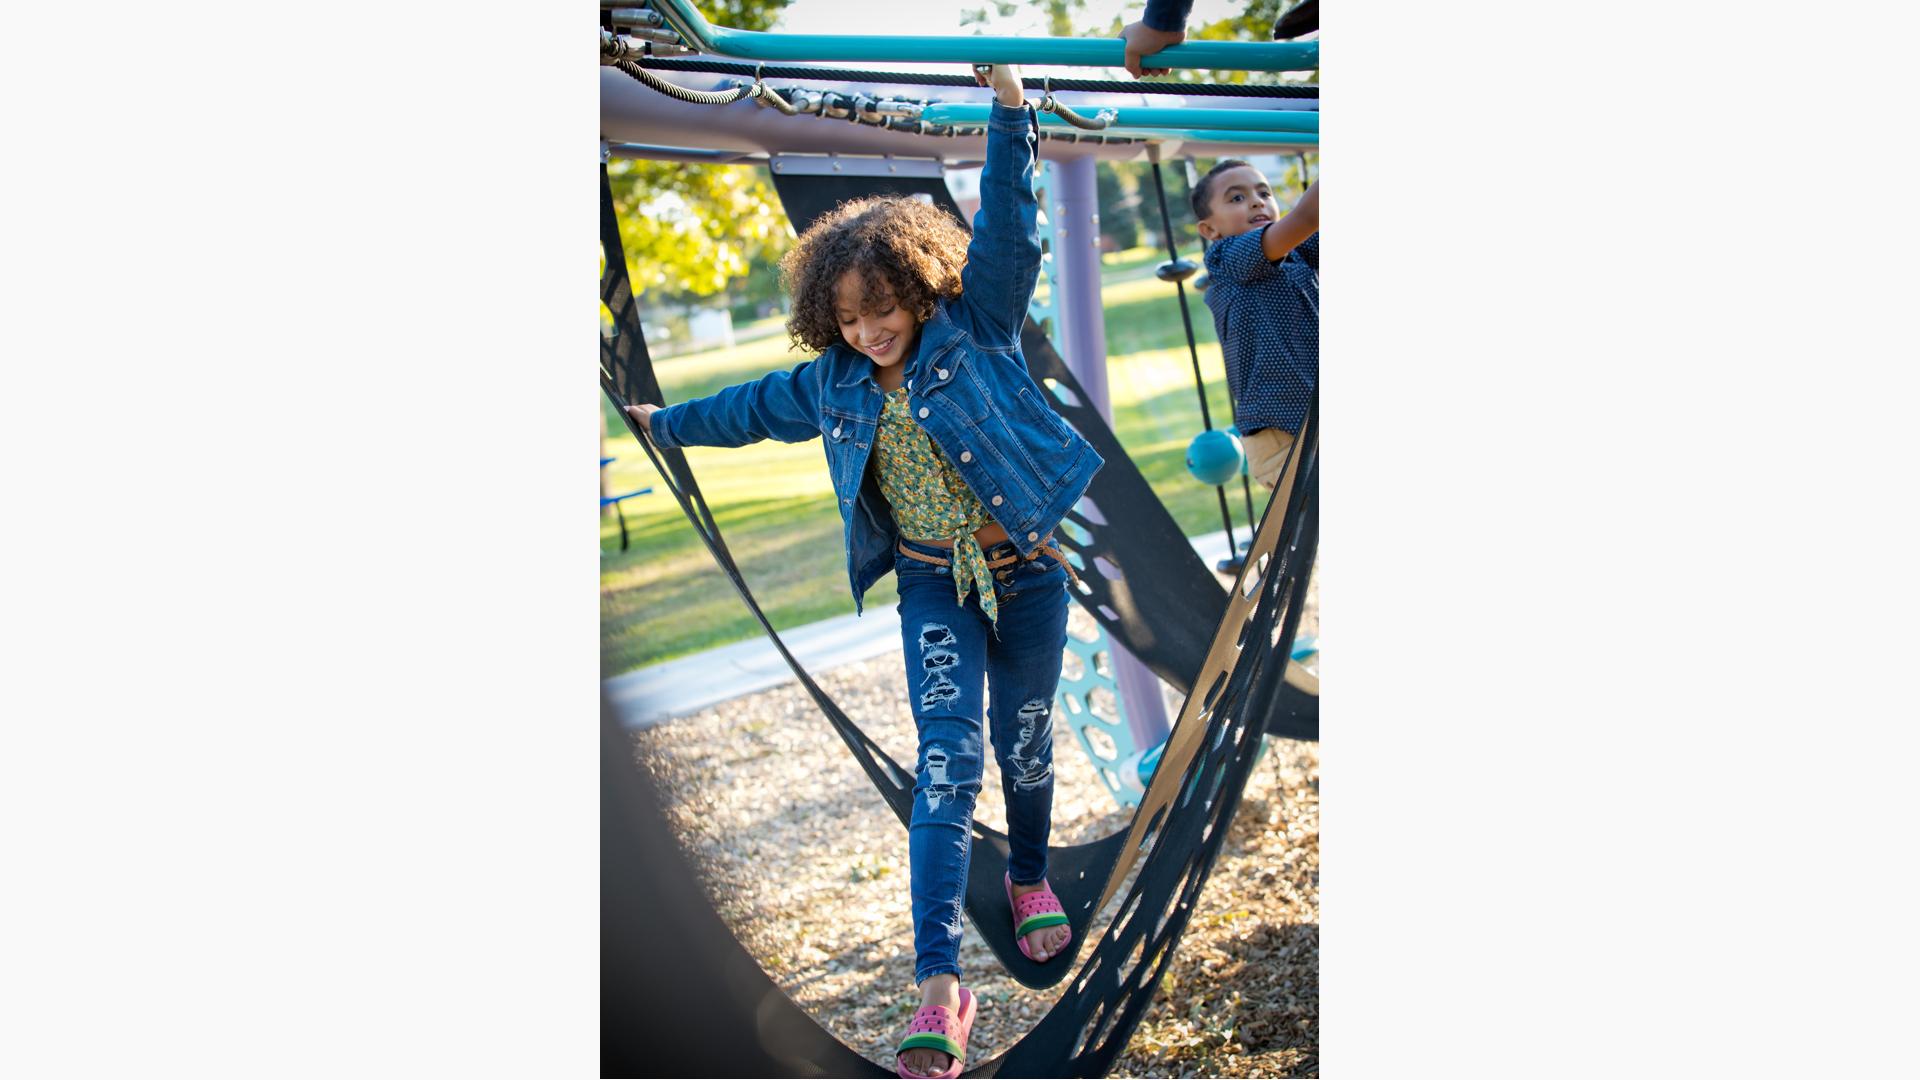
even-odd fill
[[[1233,530],[1246,542],[1246,527]],[[1213,565],[1227,557],[1227,534],[1210,532],[1192,540],[1194,552]],[[900,613],[891,603],[868,605],[864,615],[839,615],[793,630],[781,630],[793,655],[808,673],[874,659],[900,648]],[[647,728],[672,717],[685,717],[708,705],[797,682],[780,650],[764,634],[666,663],[607,678],[601,688],[626,728]]]

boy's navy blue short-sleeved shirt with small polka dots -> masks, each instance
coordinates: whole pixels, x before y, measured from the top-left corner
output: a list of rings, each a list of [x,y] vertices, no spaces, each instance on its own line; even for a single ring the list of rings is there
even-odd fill
[[[1260,250],[1263,233],[1250,229],[1206,248],[1206,306],[1240,434],[1298,432],[1319,380],[1319,233],[1277,263]]]

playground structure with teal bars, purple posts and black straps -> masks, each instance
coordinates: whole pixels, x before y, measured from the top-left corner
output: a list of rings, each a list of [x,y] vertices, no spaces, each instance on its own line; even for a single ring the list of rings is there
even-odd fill
[[[1117,42],[1104,40],[749,35],[710,27],[699,12],[678,0],[664,0],[653,10],[603,10],[601,40],[603,161],[611,156],[637,156],[766,165],[797,231],[841,200],[876,192],[920,194],[958,215],[943,175],[948,167],[977,163],[983,156],[977,127],[985,106],[966,77],[774,67],[766,61],[1117,65],[1121,54]],[[730,54],[751,63],[659,56],[680,48]],[[1317,46],[1183,44],[1150,58],[1150,65],[1302,69],[1317,65]],[[1096,761],[1108,763],[1108,786],[1116,790],[1116,798],[1123,796],[1123,788],[1137,788],[1125,796],[1131,796],[1127,801],[1139,801],[1125,832],[1056,847],[1050,855],[1056,874],[1066,878],[1058,892],[1073,922],[1075,959],[1089,942],[1091,920],[1117,896],[1135,863],[1140,872],[1085,965],[1077,970],[1068,963],[1035,965],[1014,947],[1008,905],[1000,897],[1006,840],[975,824],[968,913],[981,936],[1027,986],[1050,986],[1069,974],[1075,980],[1027,1038],[993,1061],[968,1061],[968,1074],[973,1076],[1066,1070],[1102,1074],[1139,1022],[1158,972],[1192,915],[1192,901],[1225,834],[1221,826],[1231,819],[1258,755],[1260,736],[1317,738],[1317,682],[1290,663],[1315,546],[1317,409],[1302,429],[1279,496],[1260,521],[1235,588],[1223,594],[1106,427],[1106,344],[1098,306],[1098,209],[1092,183],[1098,160],[1152,161],[1158,181],[1160,161],[1167,156],[1311,148],[1317,144],[1317,90],[1248,86],[1244,94],[1227,96],[1217,92],[1219,86],[1198,90],[1179,85],[1175,96],[1165,92],[1167,85],[1152,83],[1142,83],[1133,92],[1114,83],[1027,83],[1043,94],[1039,104],[1044,110],[1039,184],[1044,188],[1041,202],[1046,211],[1043,275],[1050,288],[1029,313],[1021,346],[1037,380],[1054,392],[1054,409],[1094,442],[1108,461],[1087,498],[1062,525],[1062,546],[1083,571],[1075,600],[1094,615],[1104,640],[1081,650],[1087,676],[1073,686],[1062,682],[1064,707],[1058,715],[1069,717],[1083,748]],[[1071,104],[1056,98],[1069,92]],[[1160,104],[1148,104],[1148,98]],[[1162,213],[1167,223],[1164,190]],[[601,300],[616,321],[612,340],[603,342],[601,382],[616,405],[659,404],[659,382],[626,282],[626,259],[605,179],[601,225],[607,252]],[[1183,281],[1190,277],[1192,263],[1171,250],[1169,223],[1165,233],[1169,261],[1162,267],[1162,279],[1181,290],[1185,306]],[[1198,382],[1198,356],[1194,375]],[[1212,429],[1210,417],[1206,427]],[[904,826],[912,774],[887,759],[785,651],[733,565],[685,459],[645,440],[641,446],[716,563]],[[1219,471],[1210,471],[1215,473]],[[1219,475],[1227,479],[1225,473]],[[1223,488],[1219,505],[1231,544],[1233,521]],[[1252,519],[1250,494],[1248,517]],[[1102,657],[1106,663],[1100,663]],[[1102,686],[1121,703],[1119,717],[1094,717],[1087,707],[1094,686],[1089,678],[1102,676],[1108,680]],[[1162,680],[1187,696],[1173,724],[1167,724],[1160,707]],[[1100,740],[1092,738],[1096,730]],[[1248,732],[1256,738],[1246,738]],[[1148,782],[1140,761],[1154,751],[1160,761]],[[611,919],[611,913],[603,913],[603,919]],[[780,997],[778,990],[774,995]],[[783,997],[781,1003],[793,1009]],[[780,1003],[762,997],[762,1015],[770,1009],[780,1013]],[[609,1013],[605,1022],[618,1024],[620,1019]],[[877,1068],[845,1047],[839,1047],[843,1055],[820,1043],[806,1032],[810,1020],[781,1024],[758,1028],[760,1049],[785,1063],[778,1070],[866,1074]],[[791,1034],[776,1038],[768,1030]],[[812,1030],[818,1032],[818,1026]],[[818,1036],[831,1043],[831,1036]],[[808,1068],[797,1063],[808,1063]]]

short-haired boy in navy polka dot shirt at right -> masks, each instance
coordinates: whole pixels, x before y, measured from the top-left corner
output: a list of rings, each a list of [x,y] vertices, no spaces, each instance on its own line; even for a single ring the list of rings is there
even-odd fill
[[[1227,158],[1192,204],[1246,471],[1273,488],[1319,379],[1319,181],[1281,217],[1267,177]]]

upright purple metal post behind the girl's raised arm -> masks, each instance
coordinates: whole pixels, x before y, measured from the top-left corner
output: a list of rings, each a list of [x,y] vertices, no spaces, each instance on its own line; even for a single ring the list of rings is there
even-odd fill
[[[1054,298],[1062,331],[1060,352],[1092,400],[1092,407],[1112,425],[1114,409],[1106,392],[1106,311],[1100,306],[1100,198],[1094,186],[1094,158],[1091,154],[1054,158],[1046,202],[1046,217],[1054,225],[1054,281],[1060,288]],[[1108,638],[1108,646],[1114,650],[1114,682],[1119,686],[1119,700],[1125,701],[1133,744],[1139,749],[1160,746],[1171,730],[1160,696],[1160,676],[1119,642]]]

